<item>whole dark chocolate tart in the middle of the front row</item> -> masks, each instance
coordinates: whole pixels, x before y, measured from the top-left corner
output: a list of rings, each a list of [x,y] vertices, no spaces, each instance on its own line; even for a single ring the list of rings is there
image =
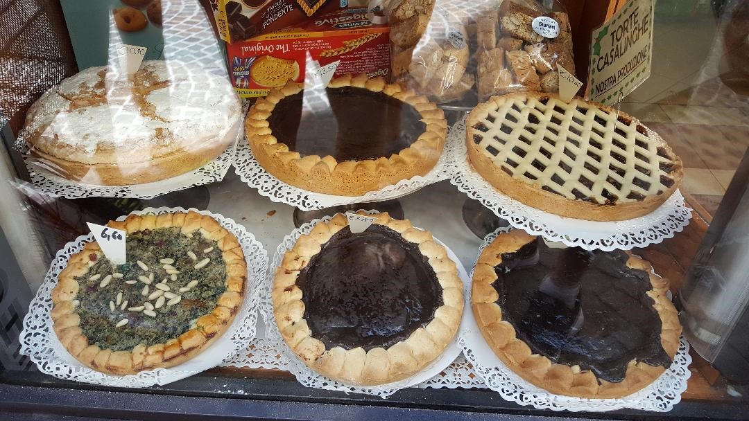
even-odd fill
[[[409,221],[372,216],[363,233],[337,214],[300,236],[272,293],[294,354],[327,378],[363,386],[422,370],[452,342],[463,313],[463,283],[443,245]]]

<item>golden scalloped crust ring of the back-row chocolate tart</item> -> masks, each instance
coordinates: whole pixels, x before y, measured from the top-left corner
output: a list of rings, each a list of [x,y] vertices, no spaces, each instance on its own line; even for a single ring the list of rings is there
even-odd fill
[[[339,196],[360,196],[377,191],[402,179],[425,176],[442,155],[447,135],[443,111],[425,96],[399,84],[386,84],[384,79],[368,79],[366,75],[346,75],[333,79],[328,87],[361,87],[382,92],[413,106],[422,116],[426,129],[399,153],[378,159],[338,162],[333,156],[301,156],[279,142],[270,130],[268,117],[276,104],[286,96],[299,93],[303,84],[288,82],[259,98],[247,115],[245,129],[249,146],[260,165],[288,184],[309,191]],[[361,118],[366,118],[362,115]]]

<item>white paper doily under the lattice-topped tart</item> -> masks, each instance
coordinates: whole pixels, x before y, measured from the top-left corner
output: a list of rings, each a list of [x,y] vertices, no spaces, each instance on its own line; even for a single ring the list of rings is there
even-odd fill
[[[630,250],[662,242],[689,224],[692,209],[685,206],[678,190],[649,215],[626,221],[585,221],[534,209],[500,193],[472,168],[467,159],[465,137],[465,120],[461,120],[448,133],[448,142],[455,144],[450,182],[513,227],[534,236],[586,250]]]

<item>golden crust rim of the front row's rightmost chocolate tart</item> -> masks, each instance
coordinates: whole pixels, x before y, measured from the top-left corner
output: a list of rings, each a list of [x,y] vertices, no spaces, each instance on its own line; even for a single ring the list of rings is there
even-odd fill
[[[497,304],[499,295],[491,286],[491,283],[497,280],[494,267],[502,262],[503,253],[518,251],[535,239],[535,236],[530,236],[523,230],[500,234],[481,253],[473,271],[473,315],[494,354],[526,381],[557,395],[580,398],[610,399],[628,396],[651,384],[663,374],[664,367],[650,366],[642,361],[632,360],[621,382],[599,380],[592,371],[581,371],[580,366],[552,363],[548,357],[533,354],[527,343],[515,336],[513,325],[502,320],[502,309]],[[676,351],[679,350],[682,325],[679,323],[676,308],[666,295],[668,281],[653,274],[649,262],[631,254],[627,265],[650,274],[652,290],[647,292],[647,295],[655,301],[653,307],[661,316],[661,345],[673,360]]]

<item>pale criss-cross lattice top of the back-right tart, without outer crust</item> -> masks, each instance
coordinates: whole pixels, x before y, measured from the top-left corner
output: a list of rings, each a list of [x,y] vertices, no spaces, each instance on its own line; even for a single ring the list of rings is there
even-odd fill
[[[676,181],[678,158],[637,120],[580,99],[509,96],[478,117],[473,141],[514,179],[600,204],[637,202]]]

